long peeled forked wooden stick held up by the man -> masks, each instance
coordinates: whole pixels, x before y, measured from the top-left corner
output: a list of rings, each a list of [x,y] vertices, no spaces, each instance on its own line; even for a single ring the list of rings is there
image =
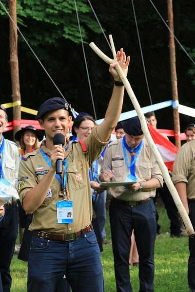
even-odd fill
[[[111,42],[111,46],[112,46],[112,51],[113,51],[113,56],[114,58],[113,59],[110,59],[109,57],[107,57],[105,54],[103,54],[99,49],[98,47],[92,42],[90,43],[90,47],[94,50],[94,52],[101,58],[103,59],[106,63],[108,64],[111,64],[111,63],[117,63],[117,54],[116,54],[116,51],[115,51],[115,47],[114,47],[114,43],[113,43],[113,39],[112,39],[112,36],[110,35],[109,36],[110,38],[110,42]],[[195,231],[194,231],[194,228],[192,226],[192,223],[189,219],[189,216],[186,212],[186,209],[184,208],[180,198],[179,198],[179,195],[176,191],[176,188],[174,186],[174,184],[172,183],[172,180],[170,178],[170,175],[169,175],[169,172],[168,172],[168,169],[167,167],[165,166],[163,160],[162,160],[162,157],[159,153],[159,151],[157,150],[157,147],[155,145],[155,142],[153,141],[152,137],[151,137],[151,134],[148,130],[148,127],[147,127],[147,123],[146,123],[146,119],[145,119],[145,116],[143,114],[143,112],[141,111],[141,108],[140,108],[140,105],[137,101],[137,98],[134,94],[134,91],[132,90],[131,88],[131,85],[127,79],[127,77],[125,76],[125,74],[123,73],[120,65],[117,63],[117,66],[115,67],[115,69],[117,70],[117,73],[118,75],[120,76],[125,88],[126,88],[126,91],[133,103],[133,106],[135,108],[135,110],[137,111],[137,115],[138,115],[138,118],[140,120],[140,123],[141,123],[141,129],[144,133],[144,136],[155,156],[155,159],[156,159],[156,162],[157,164],[159,165],[159,168],[162,172],[162,175],[163,175],[163,178],[164,178],[164,181],[165,183],[167,184],[167,187],[176,203],[176,207],[179,211],[179,214],[181,216],[181,218],[183,219],[183,222],[185,224],[185,227],[186,227],[186,231],[187,231],[187,234],[188,236],[191,236],[191,237],[194,237],[195,236]]]

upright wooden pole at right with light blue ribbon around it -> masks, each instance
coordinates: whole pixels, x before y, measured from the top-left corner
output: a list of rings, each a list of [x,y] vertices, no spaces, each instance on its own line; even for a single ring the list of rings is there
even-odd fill
[[[174,16],[173,16],[173,1],[167,0],[168,6],[168,25],[171,30],[169,32],[169,54],[170,54],[170,67],[171,67],[171,84],[172,96],[174,101],[174,130],[176,135],[176,146],[181,147],[179,113],[178,113],[178,91],[177,91],[177,75],[176,75],[176,47],[174,39]],[[179,139],[179,140],[178,140]]]

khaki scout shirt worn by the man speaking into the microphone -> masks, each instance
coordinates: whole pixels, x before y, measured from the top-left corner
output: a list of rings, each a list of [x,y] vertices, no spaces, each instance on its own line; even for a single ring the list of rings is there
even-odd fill
[[[108,141],[109,142],[109,141]],[[97,135],[97,126],[92,130],[91,135],[84,139],[88,151],[82,151],[80,143],[68,145],[65,153],[67,156],[67,184],[70,201],[73,201],[73,223],[57,223],[57,202],[63,200],[59,197],[62,190],[61,184],[56,179],[51,186],[52,197],[46,198],[39,208],[33,213],[33,222],[30,230],[42,230],[54,234],[67,234],[77,232],[87,226],[92,220],[92,197],[89,181],[89,167],[98,158],[108,142],[101,142]],[[42,150],[50,156],[51,150],[45,147],[44,141],[41,144]],[[20,162],[18,191],[20,201],[30,189],[35,187],[49,171],[49,166],[43,158],[40,150],[28,153]]]

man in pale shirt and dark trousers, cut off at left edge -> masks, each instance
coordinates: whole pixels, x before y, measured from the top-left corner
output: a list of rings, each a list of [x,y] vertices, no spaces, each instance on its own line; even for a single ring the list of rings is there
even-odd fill
[[[3,131],[7,125],[7,113],[0,105],[0,194],[12,195],[4,204],[4,217],[0,220],[0,274],[4,292],[9,292],[12,284],[10,264],[14,255],[18,235],[18,206],[19,195],[15,188],[18,178],[18,147],[4,139]]]

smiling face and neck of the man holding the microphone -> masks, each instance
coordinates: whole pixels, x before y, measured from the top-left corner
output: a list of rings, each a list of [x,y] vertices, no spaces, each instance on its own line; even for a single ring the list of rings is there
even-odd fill
[[[57,133],[66,136],[69,131],[72,117],[68,115],[67,110],[54,110],[45,113],[44,120],[39,119],[39,125],[45,129],[46,146],[53,148],[53,138]]]

